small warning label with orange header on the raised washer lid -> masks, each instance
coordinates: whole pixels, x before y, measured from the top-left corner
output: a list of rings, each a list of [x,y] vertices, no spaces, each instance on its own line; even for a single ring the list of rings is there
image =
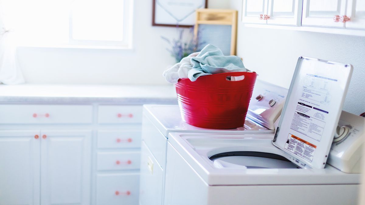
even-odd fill
[[[307,142],[306,140],[300,139],[297,136],[289,134],[284,148],[291,151],[293,154],[301,156],[302,158],[312,162],[317,146]]]

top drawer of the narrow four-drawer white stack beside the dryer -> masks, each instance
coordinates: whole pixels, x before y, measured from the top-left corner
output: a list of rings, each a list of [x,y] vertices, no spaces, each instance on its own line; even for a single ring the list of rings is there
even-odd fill
[[[100,105],[98,122],[100,124],[142,123],[142,106]]]

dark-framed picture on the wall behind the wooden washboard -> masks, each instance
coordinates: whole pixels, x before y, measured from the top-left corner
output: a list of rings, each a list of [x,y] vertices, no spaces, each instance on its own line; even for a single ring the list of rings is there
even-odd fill
[[[208,0],[152,0],[152,26],[191,27],[195,11],[207,8]]]

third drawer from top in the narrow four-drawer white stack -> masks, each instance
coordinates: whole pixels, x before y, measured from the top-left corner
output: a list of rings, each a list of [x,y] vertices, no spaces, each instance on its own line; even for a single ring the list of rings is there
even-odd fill
[[[98,152],[97,170],[133,170],[139,169],[139,151]]]

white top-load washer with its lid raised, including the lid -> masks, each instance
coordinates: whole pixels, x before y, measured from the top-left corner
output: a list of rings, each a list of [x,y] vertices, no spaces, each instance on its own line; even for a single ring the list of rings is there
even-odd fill
[[[170,133],[165,204],[355,204],[365,118],[339,120],[351,72],[300,57],[272,139]]]

